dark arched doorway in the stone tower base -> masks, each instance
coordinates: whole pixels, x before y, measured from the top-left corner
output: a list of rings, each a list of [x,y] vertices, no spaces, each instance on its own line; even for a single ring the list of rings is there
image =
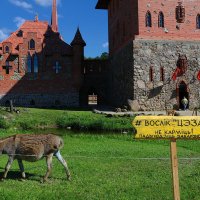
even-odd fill
[[[183,110],[183,105],[181,103],[181,100],[186,97],[186,99],[189,102],[189,92],[188,92],[188,87],[184,81],[181,81],[179,86],[178,86],[178,100],[179,100],[179,109]],[[189,108],[189,103],[187,105],[187,109]]]

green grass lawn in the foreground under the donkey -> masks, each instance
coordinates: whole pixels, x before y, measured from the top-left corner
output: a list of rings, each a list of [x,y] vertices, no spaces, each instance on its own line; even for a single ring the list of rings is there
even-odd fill
[[[61,152],[72,181],[65,180],[62,166],[54,159],[48,183],[39,182],[46,171],[45,160],[26,162],[29,177],[21,182],[15,162],[8,179],[0,182],[2,200],[173,199],[169,141],[139,141],[130,135],[59,134],[65,142]],[[179,141],[178,157],[200,157],[199,141]],[[0,159],[3,171],[7,157]],[[179,174],[181,200],[199,200],[200,161],[180,159]]]

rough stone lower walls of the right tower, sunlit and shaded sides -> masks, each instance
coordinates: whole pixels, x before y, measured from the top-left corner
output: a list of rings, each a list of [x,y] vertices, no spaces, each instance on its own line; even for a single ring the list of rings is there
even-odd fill
[[[186,55],[188,69],[174,81],[178,57]],[[177,89],[181,81],[187,85],[189,108],[200,106],[200,88],[197,79],[200,70],[200,43],[186,41],[134,40],[110,60],[113,105],[126,105],[135,100],[140,110],[179,108]],[[153,81],[150,81],[150,67]],[[164,80],[161,81],[161,67]]]

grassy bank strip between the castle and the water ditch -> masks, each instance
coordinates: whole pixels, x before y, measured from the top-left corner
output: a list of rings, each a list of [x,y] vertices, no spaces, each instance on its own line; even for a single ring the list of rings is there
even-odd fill
[[[72,128],[81,131],[132,131],[131,122],[134,117],[107,117],[103,114],[95,114],[92,111],[72,111],[20,108],[20,114],[9,113],[0,110],[0,128],[9,127],[21,130],[33,130],[44,128]]]

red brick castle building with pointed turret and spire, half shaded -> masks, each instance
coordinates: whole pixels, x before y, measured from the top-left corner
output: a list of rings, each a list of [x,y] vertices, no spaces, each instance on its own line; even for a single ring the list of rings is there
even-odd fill
[[[63,41],[53,0],[51,25],[36,16],[0,43],[0,104],[79,106],[85,45],[79,29]]]

